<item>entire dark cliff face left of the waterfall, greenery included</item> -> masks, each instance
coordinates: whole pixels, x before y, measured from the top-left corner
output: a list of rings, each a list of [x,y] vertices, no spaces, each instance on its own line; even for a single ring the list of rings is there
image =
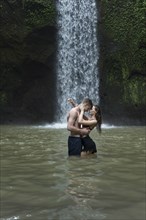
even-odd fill
[[[1,123],[54,120],[56,27],[44,3],[2,1]]]

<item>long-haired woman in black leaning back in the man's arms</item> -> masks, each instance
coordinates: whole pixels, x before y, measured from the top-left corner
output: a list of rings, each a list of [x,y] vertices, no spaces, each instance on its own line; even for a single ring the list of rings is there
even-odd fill
[[[73,106],[77,106],[73,99],[68,99],[68,102]],[[93,105],[92,110],[90,110],[90,117],[84,115],[84,108],[82,107],[79,114],[78,123],[81,127],[89,127],[90,130],[93,130],[96,127],[101,134],[102,116],[100,107],[98,105]],[[82,136],[81,138],[83,145],[81,156],[94,154],[97,152],[96,144],[89,135]]]

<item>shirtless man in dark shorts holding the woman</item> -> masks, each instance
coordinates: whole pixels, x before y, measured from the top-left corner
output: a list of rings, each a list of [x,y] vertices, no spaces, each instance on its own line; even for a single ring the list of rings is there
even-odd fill
[[[82,151],[82,140],[81,136],[88,135],[90,129],[80,128],[78,123],[78,117],[81,112],[82,106],[84,111],[89,111],[92,109],[92,101],[88,98],[85,98],[81,104],[72,108],[67,116],[67,129],[70,131],[68,137],[68,155],[69,156],[80,156]]]

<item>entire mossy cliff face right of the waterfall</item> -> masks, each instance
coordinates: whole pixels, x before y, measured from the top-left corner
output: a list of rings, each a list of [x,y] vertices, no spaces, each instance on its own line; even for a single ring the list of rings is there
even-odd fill
[[[100,104],[115,124],[145,124],[144,2],[98,1]]]

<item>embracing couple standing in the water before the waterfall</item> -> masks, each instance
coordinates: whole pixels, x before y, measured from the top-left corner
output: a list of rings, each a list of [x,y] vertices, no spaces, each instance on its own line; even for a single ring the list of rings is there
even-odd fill
[[[97,127],[101,133],[101,110],[98,105],[93,105],[89,98],[85,98],[79,105],[72,99],[68,102],[73,105],[67,116],[67,129],[70,131],[68,137],[68,155],[84,156],[97,152],[95,142],[89,134]],[[84,115],[90,111],[90,117]]]

